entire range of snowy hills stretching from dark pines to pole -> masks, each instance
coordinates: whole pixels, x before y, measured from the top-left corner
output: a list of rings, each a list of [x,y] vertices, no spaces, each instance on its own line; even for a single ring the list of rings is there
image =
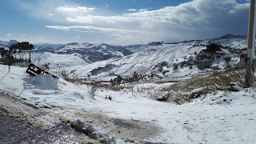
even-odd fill
[[[156,73],[161,76],[174,77],[181,74],[194,74],[198,69],[186,67],[186,72],[180,70],[180,66],[187,65],[189,58],[198,58],[198,53],[206,49],[209,43],[217,43],[222,45],[225,54],[220,59],[213,59],[211,66],[226,67],[224,57],[230,57],[231,62],[238,63],[239,50],[246,48],[246,36],[227,34],[220,38],[212,38],[206,40],[190,40],[183,42],[150,42],[148,45],[130,45],[130,46],[110,46],[105,43],[69,43],[66,45],[52,44],[35,44],[34,52],[50,52],[54,57],[58,55],[63,60],[67,57],[78,58],[85,64],[84,66],[70,67],[70,71],[75,70],[77,74],[91,75],[91,78],[110,77],[120,74],[129,77],[136,71],[138,74]],[[7,46],[9,42],[0,42],[0,46]],[[58,48],[57,48],[58,47]],[[230,51],[238,51],[231,54]],[[207,60],[207,58],[206,58]],[[59,61],[59,60],[58,60]],[[66,60],[67,61],[67,60]],[[77,60],[75,60],[77,61]],[[75,63],[74,61],[74,63]],[[203,58],[200,61],[205,61]],[[47,61],[56,63],[54,61]],[[194,62],[194,61],[191,61]],[[57,62],[58,63],[58,62]],[[222,66],[221,66],[222,65]],[[178,66],[178,70],[176,69]],[[194,65],[194,67],[196,67]],[[181,72],[181,74],[179,74]]]

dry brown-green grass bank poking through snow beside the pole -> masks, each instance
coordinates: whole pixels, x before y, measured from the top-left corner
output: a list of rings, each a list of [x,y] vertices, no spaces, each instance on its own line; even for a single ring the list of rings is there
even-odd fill
[[[178,82],[172,86],[162,89],[168,91],[174,102],[182,104],[191,102],[194,98],[199,98],[215,90],[234,91],[234,85],[230,82],[236,82],[242,86],[245,77],[245,70],[239,67],[230,68],[222,71],[214,71],[211,74],[190,78],[189,80]],[[196,90],[196,92],[193,92]],[[182,92],[182,93],[181,93]]]

